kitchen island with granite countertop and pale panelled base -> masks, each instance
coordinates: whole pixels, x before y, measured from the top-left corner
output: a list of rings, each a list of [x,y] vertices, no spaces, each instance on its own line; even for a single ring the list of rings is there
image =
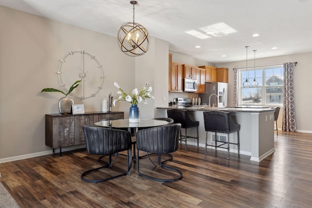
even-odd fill
[[[219,110],[231,112],[234,122],[240,124],[239,139],[240,139],[240,154],[250,155],[250,160],[260,162],[262,159],[272,154],[274,150],[274,111],[271,108],[255,108],[255,107],[226,107],[226,108],[207,108],[204,106],[169,106],[156,108],[158,116],[167,117],[168,109],[185,109],[190,114],[190,117],[199,121],[199,146],[205,147],[206,132],[203,119],[203,111]],[[183,130],[182,130],[183,131]],[[191,134],[191,132],[188,130]],[[213,143],[213,132],[208,133],[208,144]],[[217,138],[226,139],[227,134],[217,133]],[[230,141],[236,142],[235,133],[230,134]],[[188,145],[197,145],[195,140],[188,139]],[[213,148],[214,147],[207,147]],[[224,150],[224,149],[217,149]],[[237,146],[230,145],[230,152],[237,153]],[[203,152],[204,153],[204,152]]]

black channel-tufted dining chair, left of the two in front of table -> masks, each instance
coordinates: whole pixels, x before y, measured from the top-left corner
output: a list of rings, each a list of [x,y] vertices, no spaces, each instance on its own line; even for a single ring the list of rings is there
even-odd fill
[[[105,166],[99,168],[87,170],[81,174],[81,179],[87,182],[102,182],[111,180],[124,175],[131,175],[131,164],[132,164],[132,151],[131,151],[131,135],[129,132],[124,130],[101,128],[93,126],[82,126],[82,130],[85,135],[86,149],[88,153],[95,155],[108,155],[108,162]],[[127,169],[121,174],[117,174],[111,177],[101,179],[86,179],[85,176],[93,171],[102,168],[111,168],[115,160],[117,159],[118,152],[127,151]],[[116,158],[112,162],[112,154],[115,154]],[[100,158],[102,158],[101,156]],[[99,162],[105,163],[98,159]]]

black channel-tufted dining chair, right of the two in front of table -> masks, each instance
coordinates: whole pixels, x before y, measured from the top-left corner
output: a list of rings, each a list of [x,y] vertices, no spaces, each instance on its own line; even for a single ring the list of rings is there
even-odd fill
[[[161,168],[172,170],[178,173],[177,177],[169,179],[161,179],[156,176],[144,174],[139,170],[139,161],[141,159],[137,159],[137,173],[139,176],[144,176],[156,181],[163,182],[175,181],[182,178],[183,174],[180,170],[165,166],[163,165],[163,162],[161,162],[161,154],[177,151],[180,130],[181,124],[170,124],[137,131],[137,154],[138,151],[146,151],[152,154],[157,154],[158,163]]]

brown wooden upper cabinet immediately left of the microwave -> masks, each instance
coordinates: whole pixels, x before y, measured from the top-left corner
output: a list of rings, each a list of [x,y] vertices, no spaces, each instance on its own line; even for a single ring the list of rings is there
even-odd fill
[[[169,91],[183,92],[183,66],[182,64],[172,62],[169,76]]]

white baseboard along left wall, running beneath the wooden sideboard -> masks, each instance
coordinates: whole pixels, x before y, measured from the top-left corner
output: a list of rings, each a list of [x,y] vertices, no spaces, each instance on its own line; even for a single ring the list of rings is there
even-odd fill
[[[85,147],[86,147],[86,145],[76,145],[76,146],[72,146],[72,147],[62,148],[62,153],[65,151],[78,150],[78,149],[85,148]],[[54,153],[59,153],[59,148],[55,149]],[[30,153],[30,154],[18,155],[18,156],[14,156],[14,157],[2,158],[2,159],[0,159],[0,163],[7,163],[7,162],[27,159],[27,158],[31,158],[31,157],[39,157],[39,156],[43,156],[43,155],[47,155],[47,154],[53,154],[53,150],[40,151],[40,152],[35,152],[35,153]]]

